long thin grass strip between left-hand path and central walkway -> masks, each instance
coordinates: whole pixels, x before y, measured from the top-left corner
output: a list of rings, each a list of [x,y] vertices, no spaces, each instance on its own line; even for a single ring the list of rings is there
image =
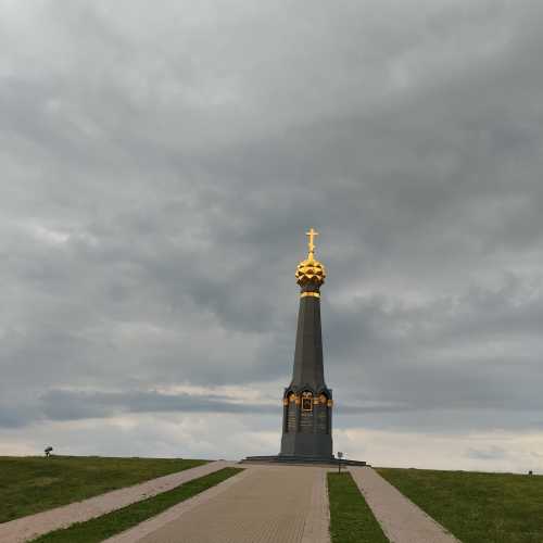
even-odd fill
[[[242,470],[240,468],[220,469],[156,496],[127,505],[92,520],[77,522],[70,528],[46,533],[33,541],[36,543],[98,543],[159,515],[173,505],[218,484],[239,471]]]

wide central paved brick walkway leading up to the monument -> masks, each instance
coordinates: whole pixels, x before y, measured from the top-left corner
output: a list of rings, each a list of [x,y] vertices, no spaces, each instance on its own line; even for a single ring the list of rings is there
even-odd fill
[[[248,466],[106,543],[329,543],[326,471]]]

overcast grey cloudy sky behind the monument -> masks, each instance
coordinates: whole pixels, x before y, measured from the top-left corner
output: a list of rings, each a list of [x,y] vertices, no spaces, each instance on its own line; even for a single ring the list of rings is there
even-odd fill
[[[1,0],[0,454],[276,454],[313,226],[334,450],[543,471],[542,26]]]

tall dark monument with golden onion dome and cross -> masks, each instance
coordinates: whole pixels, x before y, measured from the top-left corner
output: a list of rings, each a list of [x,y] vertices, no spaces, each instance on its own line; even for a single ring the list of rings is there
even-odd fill
[[[330,460],[332,455],[332,391],[327,388],[320,333],[320,287],[325,266],[315,258],[313,228],[308,254],[296,268],[300,286],[296,344],[292,380],[285,389],[280,457]]]

